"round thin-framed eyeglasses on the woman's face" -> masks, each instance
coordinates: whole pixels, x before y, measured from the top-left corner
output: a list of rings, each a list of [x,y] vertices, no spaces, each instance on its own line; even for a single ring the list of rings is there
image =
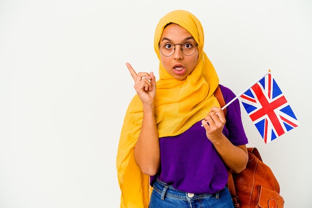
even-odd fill
[[[164,56],[172,56],[175,50],[175,45],[180,45],[181,46],[181,51],[185,56],[191,56],[193,53],[196,51],[196,46],[198,44],[188,41],[184,43],[177,43],[173,44],[171,42],[164,42],[161,43],[159,46],[160,53]]]

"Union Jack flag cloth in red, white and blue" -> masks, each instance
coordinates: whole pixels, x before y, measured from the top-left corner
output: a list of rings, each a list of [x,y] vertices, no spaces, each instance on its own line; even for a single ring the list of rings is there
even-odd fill
[[[240,98],[265,143],[299,125],[295,113],[270,73]]]

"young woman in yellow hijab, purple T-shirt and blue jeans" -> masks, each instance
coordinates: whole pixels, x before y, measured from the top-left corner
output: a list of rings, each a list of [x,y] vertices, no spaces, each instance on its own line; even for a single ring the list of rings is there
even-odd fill
[[[248,140],[238,100],[225,118],[213,95],[219,79],[203,52],[201,23],[188,11],[169,12],[154,46],[159,80],[127,63],[137,95],[117,154],[121,208],[233,207],[227,168],[245,169]],[[226,102],[235,97],[220,87]]]

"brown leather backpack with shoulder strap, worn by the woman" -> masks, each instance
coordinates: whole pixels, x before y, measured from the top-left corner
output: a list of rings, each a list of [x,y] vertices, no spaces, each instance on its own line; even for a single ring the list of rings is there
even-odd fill
[[[214,92],[221,107],[225,101],[220,86]],[[226,108],[223,110],[226,117]],[[228,170],[228,189],[235,208],[283,208],[284,199],[272,170],[262,162],[259,151],[248,147],[248,163],[240,173]]]

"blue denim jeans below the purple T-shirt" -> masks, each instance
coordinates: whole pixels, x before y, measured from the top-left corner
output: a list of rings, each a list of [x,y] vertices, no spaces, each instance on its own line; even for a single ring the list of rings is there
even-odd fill
[[[191,194],[156,180],[149,208],[234,208],[225,187],[215,194]]]

